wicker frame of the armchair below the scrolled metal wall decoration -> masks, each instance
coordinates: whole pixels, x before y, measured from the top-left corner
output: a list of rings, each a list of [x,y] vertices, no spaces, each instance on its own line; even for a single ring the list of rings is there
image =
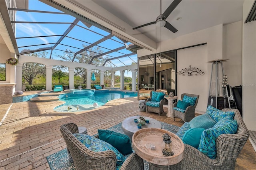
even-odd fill
[[[175,117],[178,117],[178,118],[182,119],[184,122],[189,122],[189,121],[191,121],[191,119],[193,119],[195,117],[195,109],[196,109],[196,105],[198,103],[199,95],[192,95],[192,94],[188,94],[188,93],[183,93],[181,95],[181,99],[183,99],[184,95],[189,96],[189,97],[197,97],[196,98],[196,103],[195,103],[194,106],[187,107],[187,109],[185,110],[185,113],[173,110],[173,112],[174,112],[174,121],[175,121]],[[173,107],[177,107],[177,102],[175,102],[173,104]]]

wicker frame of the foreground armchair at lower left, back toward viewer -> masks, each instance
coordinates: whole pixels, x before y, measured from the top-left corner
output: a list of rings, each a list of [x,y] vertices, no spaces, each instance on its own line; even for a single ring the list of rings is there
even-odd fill
[[[94,152],[80,142],[73,133],[78,133],[74,123],[67,123],[60,127],[60,132],[74,160],[77,170],[115,170],[116,155],[112,150]],[[98,136],[96,136],[98,138]],[[135,152],[122,164],[120,170],[143,170],[143,160]]]

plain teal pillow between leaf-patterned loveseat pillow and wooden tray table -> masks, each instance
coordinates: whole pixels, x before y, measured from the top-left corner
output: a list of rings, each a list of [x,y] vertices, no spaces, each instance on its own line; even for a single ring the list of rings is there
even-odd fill
[[[189,144],[190,146],[193,146],[194,148],[198,148],[201,140],[202,132],[204,131],[204,128],[190,128],[188,129],[183,137],[182,141],[184,144]]]

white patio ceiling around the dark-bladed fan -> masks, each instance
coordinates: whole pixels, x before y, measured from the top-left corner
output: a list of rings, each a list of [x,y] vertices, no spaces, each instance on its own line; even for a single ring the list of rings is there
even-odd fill
[[[160,0],[93,0],[93,2],[132,28],[156,21],[156,17],[160,14]],[[244,0],[182,0],[166,19],[178,32],[173,33],[164,27],[160,30],[156,24],[137,30],[154,42],[174,39],[219,24],[225,25],[242,20],[243,2]],[[162,0],[162,13],[171,3],[172,0]],[[178,17],[182,19],[176,20]]]

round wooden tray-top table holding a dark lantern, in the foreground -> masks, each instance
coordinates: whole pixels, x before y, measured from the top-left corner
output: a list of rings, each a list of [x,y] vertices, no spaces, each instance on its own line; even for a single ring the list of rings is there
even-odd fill
[[[171,136],[173,156],[164,156],[163,134]],[[156,150],[150,149],[154,144]],[[142,159],[148,161],[150,170],[168,170],[168,165],[177,164],[184,158],[184,143],[174,133],[160,128],[143,128],[132,136],[132,147]]]

